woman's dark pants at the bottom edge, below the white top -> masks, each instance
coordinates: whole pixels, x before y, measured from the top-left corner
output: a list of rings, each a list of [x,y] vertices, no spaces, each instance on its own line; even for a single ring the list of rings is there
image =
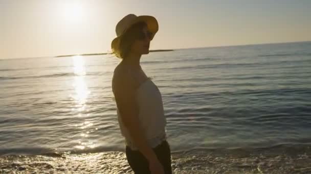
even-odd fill
[[[163,165],[164,173],[171,174],[171,151],[168,142],[163,141],[159,146],[153,148],[153,151],[156,153],[160,163]],[[150,173],[148,161],[141,152],[132,151],[128,146],[126,146],[125,153],[127,161],[135,174]]]

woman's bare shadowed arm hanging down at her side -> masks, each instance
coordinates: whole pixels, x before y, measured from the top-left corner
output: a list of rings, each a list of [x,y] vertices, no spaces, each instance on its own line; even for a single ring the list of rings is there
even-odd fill
[[[156,154],[149,146],[140,125],[138,106],[135,99],[136,86],[130,74],[124,71],[115,72],[113,77],[113,91],[122,122],[129,131],[138,150],[147,160],[158,160]]]

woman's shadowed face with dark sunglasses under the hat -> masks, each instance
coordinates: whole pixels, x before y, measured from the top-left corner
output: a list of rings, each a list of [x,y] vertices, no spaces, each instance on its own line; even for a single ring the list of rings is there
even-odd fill
[[[135,34],[135,40],[131,45],[131,52],[135,54],[148,54],[151,41],[151,33],[148,31],[146,25],[143,26],[141,31]]]

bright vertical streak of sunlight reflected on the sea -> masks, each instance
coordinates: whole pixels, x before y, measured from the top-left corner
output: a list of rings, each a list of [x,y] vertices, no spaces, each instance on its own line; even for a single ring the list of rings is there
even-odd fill
[[[76,102],[74,110],[77,111],[78,117],[88,117],[89,114],[85,113],[86,101],[87,97],[90,94],[88,91],[86,82],[85,82],[85,63],[84,57],[81,55],[76,55],[72,57],[73,60],[73,69],[74,69],[74,83],[73,86],[75,88],[75,94],[72,96],[74,101]],[[85,148],[94,148],[95,145],[92,141],[88,140],[88,136],[90,136],[90,128],[93,126],[93,123],[90,121],[84,121],[81,124],[76,124],[75,127],[79,127],[81,129],[80,136],[77,139],[78,145],[74,148],[83,150]]]

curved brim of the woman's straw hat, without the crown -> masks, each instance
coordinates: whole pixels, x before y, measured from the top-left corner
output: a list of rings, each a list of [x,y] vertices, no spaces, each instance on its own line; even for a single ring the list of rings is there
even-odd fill
[[[154,18],[153,16],[138,16],[135,20],[133,20],[129,25],[128,27],[126,28],[126,30],[123,32],[126,33],[126,31],[128,30],[128,28],[130,28],[132,25],[134,25],[135,23],[138,23],[138,22],[145,22],[147,24],[147,28],[148,28],[148,31],[152,33],[152,36],[151,36],[151,40],[153,39],[154,35],[156,35],[156,33],[158,32],[159,30],[159,25],[158,25],[158,21],[156,18]],[[111,48],[113,50],[113,53],[115,53],[115,55],[117,57],[120,57],[120,51],[119,51],[119,47],[120,47],[120,41],[121,41],[121,37],[123,35],[119,36],[119,37],[116,37],[112,43],[111,43]]]

